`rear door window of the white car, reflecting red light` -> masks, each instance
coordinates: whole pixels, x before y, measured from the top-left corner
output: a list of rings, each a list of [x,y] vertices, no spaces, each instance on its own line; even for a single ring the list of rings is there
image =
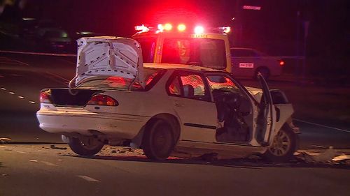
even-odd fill
[[[210,100],[210,95],[204,80],[197,73],[175,73],[169,82],[169,95],[181,96],[197,100]]]

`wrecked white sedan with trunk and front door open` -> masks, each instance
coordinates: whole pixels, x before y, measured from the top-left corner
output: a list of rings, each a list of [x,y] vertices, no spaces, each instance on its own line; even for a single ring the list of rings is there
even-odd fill
[[[223,71],[143,63],[136,40],[81,38],[76,77],[69,88],[43,89],[36,115],[83,156],[111,144],[156,160],[261,153],[285,161],[297,149],[293,107],[259,78],[262,89],[248,88]]]

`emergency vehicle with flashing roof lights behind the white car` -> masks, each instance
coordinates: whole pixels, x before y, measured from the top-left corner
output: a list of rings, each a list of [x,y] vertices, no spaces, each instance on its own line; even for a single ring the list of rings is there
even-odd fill
[[[225,70],[231,73],[230,27],[186,28],[179,24],[137,26],[132,36],[141,44],[144,63],[176,63]]]

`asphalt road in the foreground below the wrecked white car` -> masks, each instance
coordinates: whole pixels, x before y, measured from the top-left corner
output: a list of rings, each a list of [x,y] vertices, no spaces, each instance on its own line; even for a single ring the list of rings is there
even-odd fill
[[[81,157],[66,145],[0,145],[0,195],[349,195],[350,167],[168,159],[138,152]],[[129,151],[129,149],[125,149]]]

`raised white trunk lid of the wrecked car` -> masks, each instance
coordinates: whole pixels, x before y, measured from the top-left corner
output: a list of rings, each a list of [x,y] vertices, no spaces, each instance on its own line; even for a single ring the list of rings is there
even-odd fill
[[[132,79],[145,86],[141,46],[136,40],[120,37],[80,38],[76,86],[101,75]],[[71,88],[71,80],[69,88]]]

